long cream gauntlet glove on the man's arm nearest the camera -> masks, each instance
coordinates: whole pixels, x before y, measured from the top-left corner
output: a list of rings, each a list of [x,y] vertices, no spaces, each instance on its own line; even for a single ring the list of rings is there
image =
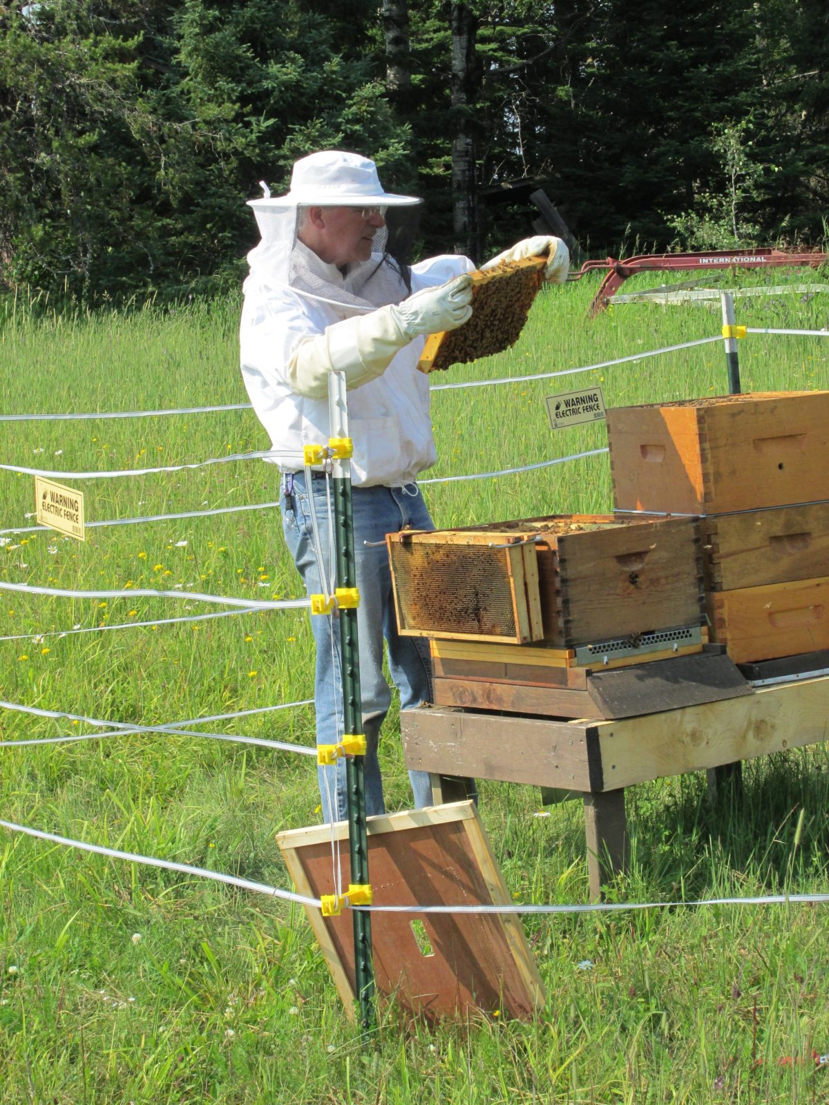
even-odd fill
[[[301,338],[287,365],[292,390],[325,399],[328,373],[345,372],[346,387],[359,388],[382,376],[398,349],[423,334],[454,330],[472,315],[469,273],[439,287],[416,292],[402,303],[346,318],[323,334]]]

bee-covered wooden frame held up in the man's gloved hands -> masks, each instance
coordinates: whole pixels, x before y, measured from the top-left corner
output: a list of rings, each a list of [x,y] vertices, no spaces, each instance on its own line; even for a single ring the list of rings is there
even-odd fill
[[[525,257],[472,273],[472,317],[455,330],[427,338],[418,361],[420,371],[468,365],[515,345],[542,286],[546,263],[547,257]]]

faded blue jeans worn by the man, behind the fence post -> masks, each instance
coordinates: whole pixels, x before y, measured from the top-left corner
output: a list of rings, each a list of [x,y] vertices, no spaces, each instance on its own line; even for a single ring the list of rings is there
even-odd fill
[[[293,486],[292,485],[293,482]],[[325,478],[311,481],[314,495],[325,575],[330,580],[328,503]],[[332,483],[332,509],[334,494]],[[304,473],[283,476],[282,525],[285,540],[308,594],[323,591],[314,555],[308,492]],[[366,813],[385,813],[382,780],[377,760],[380,726],[391,703],[391,690],[382,674],[382,642],[388,644],[389,670],[400,692],[400,708],[410,709],[431,701],[431,663],[428,643],[420,638],[400,636],[395,617],[391,571],[384,537],[405,526],[434,529],[417,484],[406,487],[354,487],[354,556],[360,602],[357,608],[360,695],[365,757]],[[366,543],[382,543],[375,545]],[[311,627],[316,643],[316,740],[334,745],[343,735],[339,625],[333,614],[314,614]],[[345,761],[318,767],[319,794],[326,821],[347,815]],[[414,806],[431,806],[432,792],[426,771],[410,771]]]

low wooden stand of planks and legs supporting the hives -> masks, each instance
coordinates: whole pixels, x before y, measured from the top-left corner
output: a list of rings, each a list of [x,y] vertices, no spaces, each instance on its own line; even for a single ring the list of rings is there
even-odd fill
[[[598,897],[623,866],[626,787],[826,740],[829,676],[620,720],[424,707],[400,723],[410,769],[581,792]]]

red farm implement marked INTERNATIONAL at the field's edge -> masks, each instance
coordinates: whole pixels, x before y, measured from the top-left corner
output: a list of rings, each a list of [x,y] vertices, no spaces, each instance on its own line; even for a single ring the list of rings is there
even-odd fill
[[[605,261],[586,261],[570,280],[580,280],[587,273],[606,269],[607,275],[590,304],[590,315],[604,311],[621,285],[636,273],[675,272],[691,269],[817,269],[829,262],[829,254],[789,252],[787,250],[722,250],[710,253],[649,253],[625,261],[606,257]]]

